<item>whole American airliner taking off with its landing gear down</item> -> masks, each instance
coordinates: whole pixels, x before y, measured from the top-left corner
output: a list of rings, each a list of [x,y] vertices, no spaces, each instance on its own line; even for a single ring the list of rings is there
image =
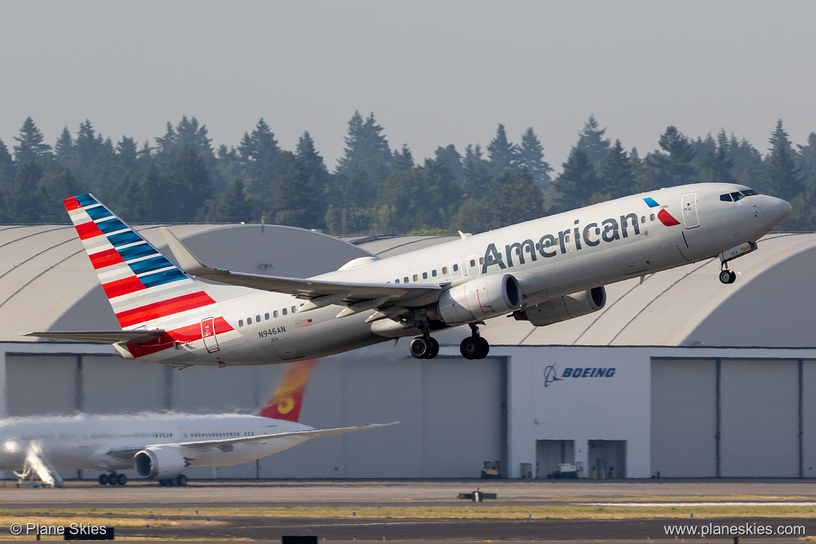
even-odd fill
[[[90,194],[65,201],[121,331],[33,336],[112,343],[127,359],[165,365],[264,365],[416,336],[410,352],[437,356],[434,331],[469,325],[468,359],[490,346],[477,325],[512,314],[550,325],[596,312],[604,285],[719,256],[728,263],[791,212],[737,184],[645,192],[518,223],[422,250],[362,257],[308,279],[210,268],[165,229],[176,268]],[[232,298],[201,277],[250,287]]]

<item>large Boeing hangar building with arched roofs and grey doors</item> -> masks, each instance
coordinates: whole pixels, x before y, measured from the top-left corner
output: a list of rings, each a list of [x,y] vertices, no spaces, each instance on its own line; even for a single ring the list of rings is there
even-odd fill
[[[137,230],[165,249],[156,225]],[[268,225],[171,230],[206,263],[294,277],[450,239],[339,240]],[[0,227],[0,248],[2,418],[251,412],[283,374],[285,365],[177,370],[119,359],[107,345],[24,337],[118,323],[73,227]],[[327,357],[301,422],[401,424],[186,474],[469,478],[499,461],[509,478],[547,478],[561,463],[586,478],[816,476],[816,234],[772,233],[733,268],[732,285],[718,281],[716,260],[609,285],[601,310],[547,327],[495,318],[481,328],[491,344],[483,360],[459,356],[466,328],[437,334],[433,360],[410,356],[406,339]]]

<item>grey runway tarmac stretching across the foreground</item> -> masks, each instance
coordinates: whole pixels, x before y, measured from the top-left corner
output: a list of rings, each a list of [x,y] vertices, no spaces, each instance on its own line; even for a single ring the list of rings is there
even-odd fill
[[[495,501],[474,503],[456,498],[458,493],[496,493]],[[663,500],[666,498],[666,500]],[[597,502],[650,503],[783,503],[816,502],[814,480],[193,480],[184,488],[163,488],[152,482],[131,481],[126,486],[100,486],[86,481],[68,481],[63,489],[16,488],[14,482],[0,483],[0,504],[7,511],[23,509],[48,512],[66,508],[155,509],[154,520],[162,519],[162,508],[189,509],[187,515],[164,516],[178,520],[172,527],[117,529],[117,534],[144,538],[249,538],[280,542],[286,534],[315,534],[326,542],[588,542],[595,540],[676,541],[666,537],[666,524],[783,524],[804,525],[806,534],[816,535],[816,520],[805,518],[722,519],[635,519],[635,520],[465,520],[465,519],[375,519],[356,517],[366,506],[422,508],[427,506],[541,506],[546,504],[589,504]],[[624,500],[625,499],[625,500]],[[254,515],[207,516],[215,508],[330,506],[348,508],[343,517],[298,518]],[[200,513],[195,514],[198,510]],[[42,523],[44,514],[32,515]],[[134,515],[135,516],[135,515]],[[120,516],[121,517],[121,516]],[[35,519],[36,518],[36,519]],[[81,516],[77,518],[81,520]],[[54,520],[54,518],[51,518]],[[139,522],[141,523],[141,522]],[[8,528],[0,529],[0,537]],[[713,536],[716,538],[716,536]],[[696,537],[699,539],[700,537]],[[709,537],[711,538],[711,537]],[[733,537],[729,537],[733,540]],[[743,537],[743,542],[798,542],[798,537]]]

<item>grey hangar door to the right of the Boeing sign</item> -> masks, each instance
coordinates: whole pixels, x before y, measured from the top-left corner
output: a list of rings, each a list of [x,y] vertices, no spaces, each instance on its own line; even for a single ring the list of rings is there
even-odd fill
[[[800,440],[809,444],[802,369],[799,360],[653,359],[652,474],[799,476]]]

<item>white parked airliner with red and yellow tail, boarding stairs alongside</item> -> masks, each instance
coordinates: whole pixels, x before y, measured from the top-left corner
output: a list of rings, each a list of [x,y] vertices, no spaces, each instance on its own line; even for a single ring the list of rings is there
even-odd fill
[[[127,482],[117,470],[135,469],[162,485],[185,485],[186,467],[226,467],[254,461],[319,436],[392,423],[314,429],[298,421],[313,360],[292,363],[257,415],[131,414],[0,420],[0,471],[21,480],[37,476],[61,486],[56,471],[108,471],[100,484]]]

